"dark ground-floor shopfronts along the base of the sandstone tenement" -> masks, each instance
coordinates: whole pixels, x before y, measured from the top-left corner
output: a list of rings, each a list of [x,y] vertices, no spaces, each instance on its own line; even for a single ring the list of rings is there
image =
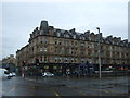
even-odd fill
[[[121,69],[128,70],[130,65],[102,65],[102,70],[118,71]],[[31,63],[25,66],[20,66],[20,75],[23,73],[27,76],[39,75],[43,72],[51,72],[57,76],[63,75],[91,75],[94,71],[99,71],[99,64],[87,63]]]

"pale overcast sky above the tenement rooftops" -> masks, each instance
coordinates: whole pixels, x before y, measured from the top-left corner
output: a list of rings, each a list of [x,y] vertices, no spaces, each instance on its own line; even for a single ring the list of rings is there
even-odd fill
[[[28,44],[30,33],[47,20],[50,26],[128,39],[128,0],[2,0],[0,60]]]

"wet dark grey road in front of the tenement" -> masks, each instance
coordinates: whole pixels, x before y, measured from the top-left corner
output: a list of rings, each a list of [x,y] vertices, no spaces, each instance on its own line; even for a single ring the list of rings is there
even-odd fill
[[[103,77],[26,77],[2,81],[2,96],[128,96],[128,76]]]

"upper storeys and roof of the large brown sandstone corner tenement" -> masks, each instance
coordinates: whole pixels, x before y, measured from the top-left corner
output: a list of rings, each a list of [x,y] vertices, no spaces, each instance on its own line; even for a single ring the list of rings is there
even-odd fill
[[[101,42],[101,53],[99,53],[99,37]],[[54,28],[49,26],[48,21],[41,21],[40,27],[36,27],[30,34],[28,44],[16,51],[17,65],[35,64],[36,58],[40,65],[43,64],[76,64],[90,63],[99,64],[101,54],[102,65],[129,65],[130,64],[130,42],[121,40],[121,37],[103,37],[102,33],[94,34],[90,30],[77,33],[75,28],[70,30]]]

